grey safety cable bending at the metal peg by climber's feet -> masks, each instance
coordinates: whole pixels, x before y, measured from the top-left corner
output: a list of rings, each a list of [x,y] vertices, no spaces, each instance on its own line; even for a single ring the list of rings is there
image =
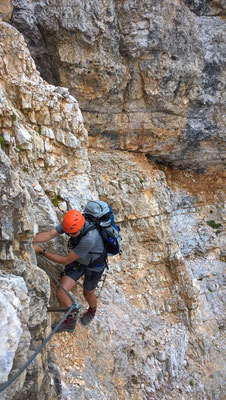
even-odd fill
[[[67,313],[63,316],[63,318],[59,321],[59,323],[55,326],[55,328],[52,330],[52,332],[49,334],[49,336],[44,340],[44,342],[38,347],[38,349],[35,351],[35,353],[27,360],[27,362],[19,369],[19,371],[7,382],[5,382],[3,385],[0,386],[0,393],[5,390],[8,386],[10,386],[21,374],[22,372],[32,363],[32,361],[35,359],[35,357],[40,353],[40,351],[45,347],[47,342],[51,339],[51,337],[56,333],[56,331],[59,329],[61,324],[65,321],[65,319],[68,317],[68,315],[73,311],[76,310],[77,312],[80,309],[80,306],[78,303],[75,302],[73,296],[71,296],[70,293],[67,292],[67,290],[64,289],[64,287],[60,284],[60,282],[51,274],[51,272],[48,270],[48,268],[40,261],[40,257],[37,257],[38,262],[40,265],[45,269],[45,271],[50,275],[61,287],[61,289],[64,290],[64,292],[70,297],[72,301],[72,305],[67,311]]]

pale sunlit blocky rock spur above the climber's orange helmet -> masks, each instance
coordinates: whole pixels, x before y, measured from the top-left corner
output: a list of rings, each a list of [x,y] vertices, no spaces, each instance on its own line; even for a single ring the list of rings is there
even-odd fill
[[[5,79],[1,86],[3,147],[32,176],[33,191],[42,195],[35,180],[43,180],[43,189],[62,211],[67,210],[65,201],[70,196],[74,199],[69,200],[70,207],[81,207],[82,193],[89,198],[91,189],[87,132],[78,103],[68,89],[48,85],[39,77],[16,30],[2,24],[1,38],[5,45],[0,64]]]

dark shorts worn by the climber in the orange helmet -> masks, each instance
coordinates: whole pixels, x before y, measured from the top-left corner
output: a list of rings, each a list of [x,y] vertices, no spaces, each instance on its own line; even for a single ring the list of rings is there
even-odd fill
[[[104,272],[104,268],[101,268],[101,271],[91,271],[87,269],[84,265],[77,265],[77,263],[73,262],[71,264],[66,265],[65,267],[65,275],[69,276],[69,278],[73,279],[75,282],[82,275],[85,275],[83,287],[86,290],[94,290],[97,287],[98,282],[101,279],[101,276]]]

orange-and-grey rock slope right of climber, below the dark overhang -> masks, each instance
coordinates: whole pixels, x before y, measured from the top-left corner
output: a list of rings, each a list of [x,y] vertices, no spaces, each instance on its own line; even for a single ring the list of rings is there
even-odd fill
[[[54,340],[63,399],[222,399],[223,181],[161,171],[143,155],[89,158],[123,255],[90,329]]]

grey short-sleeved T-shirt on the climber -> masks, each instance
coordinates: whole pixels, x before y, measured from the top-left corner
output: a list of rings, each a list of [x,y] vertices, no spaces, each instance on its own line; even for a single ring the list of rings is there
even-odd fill
[[[83,229],[88,228],[88,226],[90,226],[90,223],[86,221]],[[60,234],[65,233],[62,223],[56,226],[56,230]],[[80,264],[89,265],[91,260],[96,260],[104,251],[103,240],[98,230],[89,231],[72,250],[80,257],[78,259]]]

